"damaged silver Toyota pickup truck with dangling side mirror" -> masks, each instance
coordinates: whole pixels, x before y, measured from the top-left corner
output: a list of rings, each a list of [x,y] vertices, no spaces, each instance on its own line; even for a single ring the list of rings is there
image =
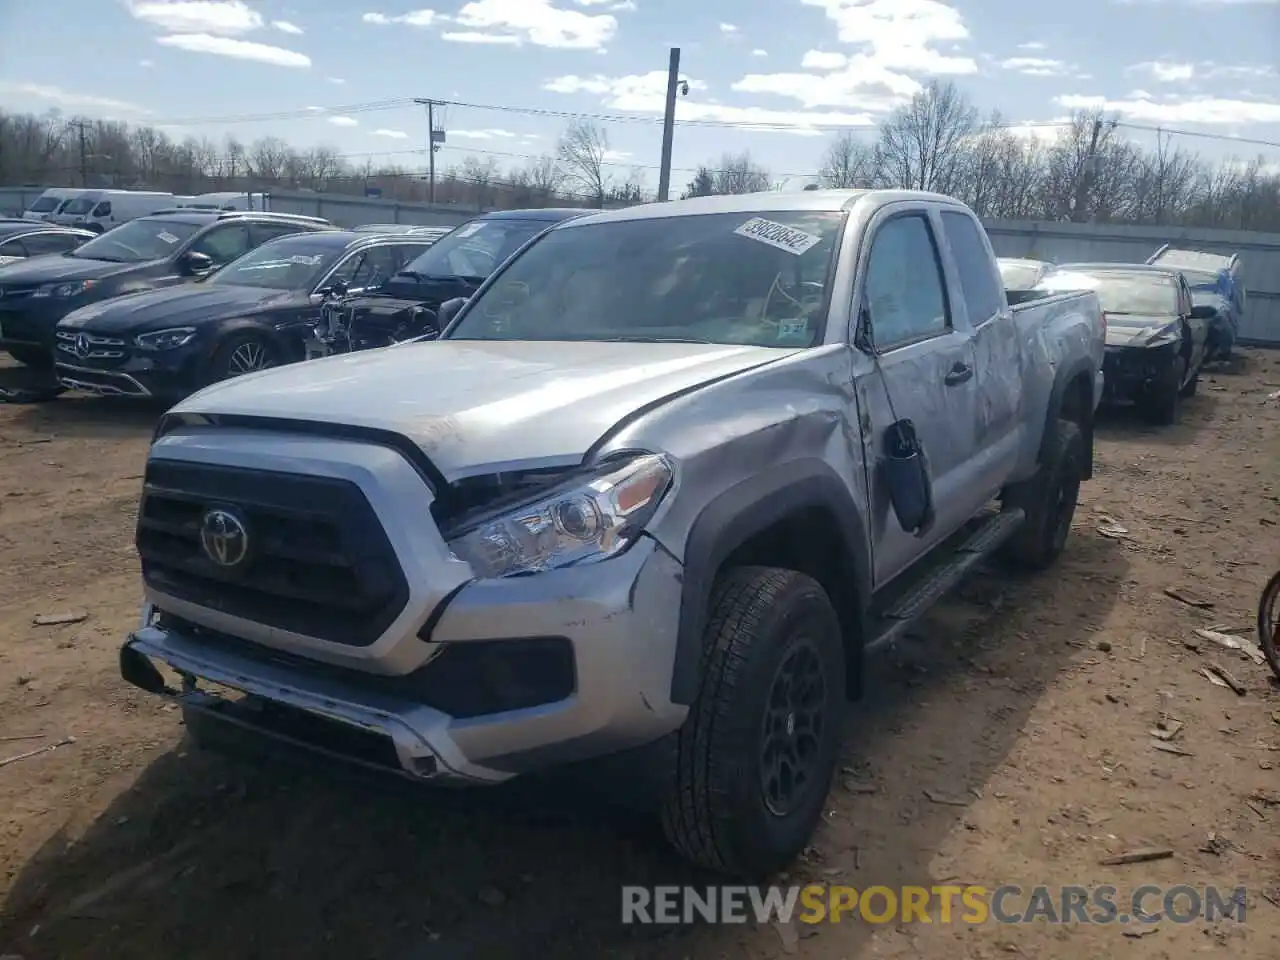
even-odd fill
[[[1009,307],[940,195],[585,216],[442,314],[160,422],[120,668],[197,742],[608,768],[685,856],[763,876],[867,652],[996,552],[1050,564],[1092,475],[1096,297]]]

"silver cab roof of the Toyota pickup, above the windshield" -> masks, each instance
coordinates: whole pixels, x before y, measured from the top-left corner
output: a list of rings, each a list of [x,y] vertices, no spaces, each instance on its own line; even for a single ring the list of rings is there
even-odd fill
[[[662,204],[640,204],[605,210],[590,216],[582,216],[557,229],[588,227],[614,220],[652,220],[669,216],[696,216],[699,214],[769,214],[849,210],[860,200],[868,200],[874,206],[901,201],[928,201],[931,204],[950,204],[960,206],[960,201],[942,193],[919,189],[806,189],[794,192],[762,191],[760,193],[731,193],[714,197],[691,197],[690,200],[668,200]]]

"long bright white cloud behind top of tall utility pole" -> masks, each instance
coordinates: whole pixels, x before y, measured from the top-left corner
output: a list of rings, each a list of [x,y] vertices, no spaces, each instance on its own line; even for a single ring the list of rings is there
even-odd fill
[[[808,74],[799,74],[808,76]],[[812,77],[820,82],[822,78]],[[690,78],[691,91],[707,90],[701,81]],[[543,84],[543,90],[554,93],[594,93],[602,97],[604,106],[628,113],[662,114],[666,109],[667,72],[627,77],[556,77]],[[681,97],[677,101],[676,116],[681,120],[719,120],[754,125],[762,131],[797,133],[803,136],[822,136],[822,127],[870,127],[874,118],[867,113],[844,111],[794,111],[768,110],[758,106],[728,106],[696,97]]]

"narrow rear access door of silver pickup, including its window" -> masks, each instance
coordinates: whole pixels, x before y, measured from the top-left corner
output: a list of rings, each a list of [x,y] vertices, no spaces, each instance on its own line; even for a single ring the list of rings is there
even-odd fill
[[[973,481],[986,500],[1000,492],[1020,452],[1023,349],[986,232],[964,210],[943,209],[940,219],[951,256],[954,298],[973,330]]]

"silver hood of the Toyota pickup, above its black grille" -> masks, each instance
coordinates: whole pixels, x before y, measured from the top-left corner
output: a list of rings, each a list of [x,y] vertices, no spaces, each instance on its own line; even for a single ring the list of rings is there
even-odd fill
[[[452,483],[577,462],[628,413],[795,352],[703,343],[406,343],[225,380],[172,412],[390,430],[421,447]]]

